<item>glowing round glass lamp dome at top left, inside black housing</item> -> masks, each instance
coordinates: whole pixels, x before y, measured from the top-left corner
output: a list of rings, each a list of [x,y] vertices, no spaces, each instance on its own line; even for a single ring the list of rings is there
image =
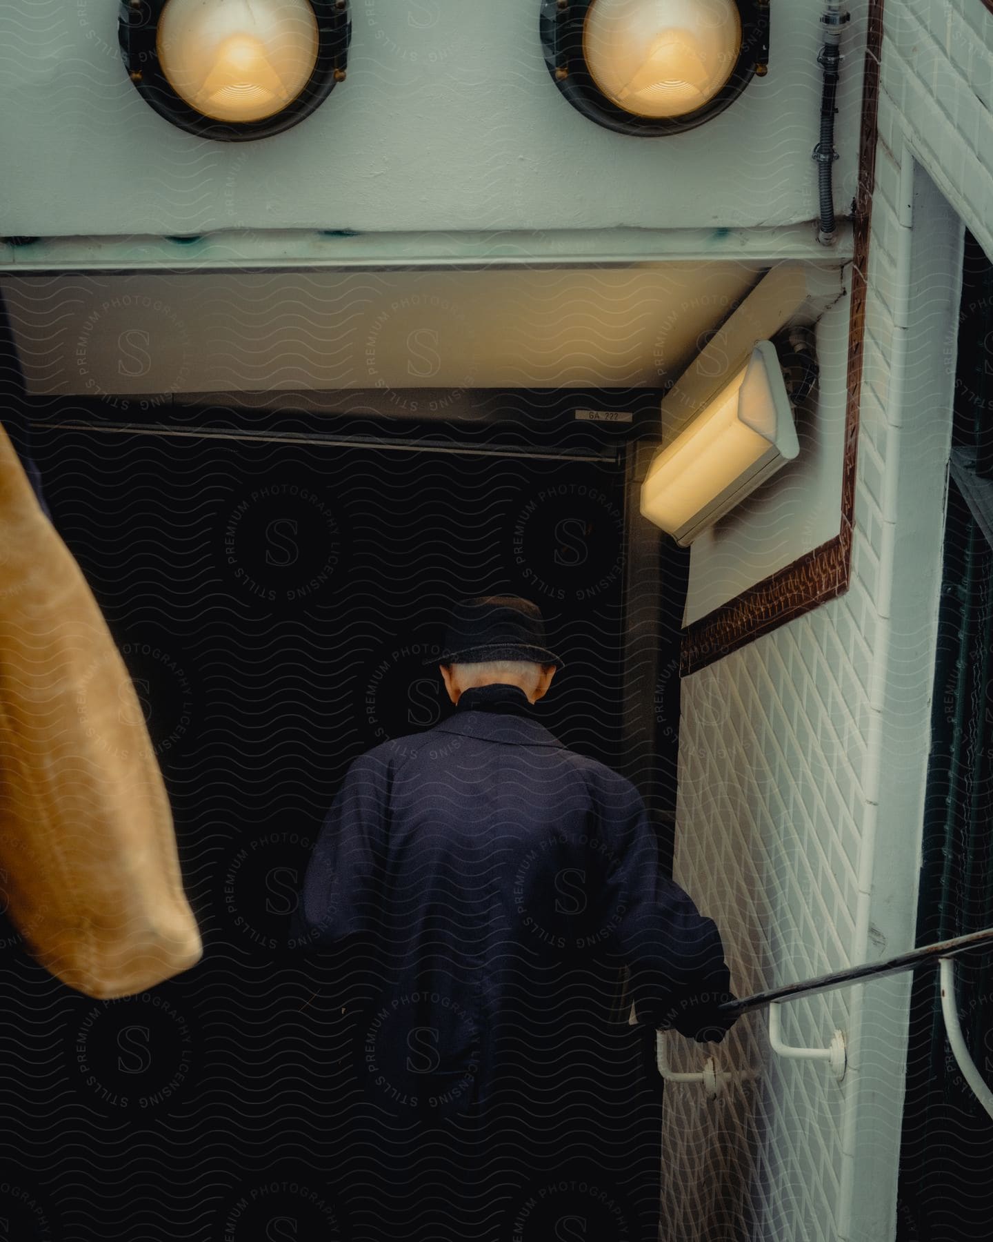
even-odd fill
[[[156,39],[176,94],[225,122],[285,108],[313,75],[318,43],[308,0],[169,0]]]

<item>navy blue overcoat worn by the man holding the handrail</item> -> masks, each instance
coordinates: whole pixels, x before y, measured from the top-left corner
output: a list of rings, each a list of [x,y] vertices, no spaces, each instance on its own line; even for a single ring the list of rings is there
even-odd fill
[[[660,874],[637,789],[564,746],[510,686],[467,691],[433,729],[351,764],[292,935],[304,949],[364,944],[357,1072],[398,1114],[513,1089],[542,1041],[564,1047],[587,1021],[568,997],[591,970],[616,982],[631,969],[628,1001],[649,1030],[726,1030],[708,1011],[731,995],[720,934]]]

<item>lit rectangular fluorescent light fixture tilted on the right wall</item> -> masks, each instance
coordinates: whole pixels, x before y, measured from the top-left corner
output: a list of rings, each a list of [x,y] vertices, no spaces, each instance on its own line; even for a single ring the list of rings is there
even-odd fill
[[[688,545],[799,452],[771,340],[662,448],[642,484],[643,517]]]

